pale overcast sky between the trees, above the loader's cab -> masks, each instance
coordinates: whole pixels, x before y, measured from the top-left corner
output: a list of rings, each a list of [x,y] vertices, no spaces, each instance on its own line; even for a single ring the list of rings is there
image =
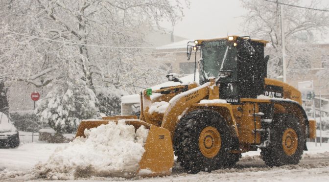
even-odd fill
[[[182,0],[183,2],[184,0]],[[247,13],[240,0],[189,0],[190,7],[185,8],[182,21],[174,26],[174,34],[187,39],[218,38],[229,35],[244,35],[241,16]],[[329,0],[320,0],[328,5]],[[284,2],[284,0],[283,0]],[[303,6],[308,6],[310,0],[304,0]],[[170,23],[161,26],[172,30]]]

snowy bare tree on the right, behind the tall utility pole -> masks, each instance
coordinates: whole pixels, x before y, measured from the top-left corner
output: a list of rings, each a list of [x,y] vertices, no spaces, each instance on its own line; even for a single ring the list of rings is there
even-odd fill
[[[278,0],[273,0],[277,1]],[[265,53],[270,55],[268,76],[282,75],[282,36],[280,4],[265,0],[241,0],[242,6],[248,10],[243,16],[244,31],[259,39],[269,40]],[[310,8],[328,9],[319,0],[280,0],[286,4],[300,5]],[[314,46],[316,39],[326,33],[329,27],[329,14],[305,8],[282,5],[284,36],[286,46],[287,71],[289,75],[307,73],[310,63],[322,48]]]

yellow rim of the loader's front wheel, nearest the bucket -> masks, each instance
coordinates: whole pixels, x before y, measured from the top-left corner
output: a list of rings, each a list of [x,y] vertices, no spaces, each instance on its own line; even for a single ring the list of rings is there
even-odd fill
[[[207,158],[215,157],[221,147],[222,140],[218,130],[212,126],[204,128],[199,137],[199,148]]]

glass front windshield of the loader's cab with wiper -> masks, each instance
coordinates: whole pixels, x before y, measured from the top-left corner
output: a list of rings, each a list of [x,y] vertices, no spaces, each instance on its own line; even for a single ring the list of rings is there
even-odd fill
[[[204,42],[201,56],[200,84],[208,82],[211,76],[218,78],[221,70],[233,70],[236,67],[236,48],[227,40]]]

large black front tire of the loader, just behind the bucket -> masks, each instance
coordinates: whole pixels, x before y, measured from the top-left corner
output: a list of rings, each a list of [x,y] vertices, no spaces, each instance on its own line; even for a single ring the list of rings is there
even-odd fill
[[[206,127],[214,128],[220,134],[220,139],[218,140],[218,144],[220,143],[220,145],[214,145],[216,140],[211,137],[211,146],[207,148],[212,150],[211,147],[220,146],[218,147],[218,153],[212,153],[214,155],[213,157],[206,157],[199,147],[199,142],[202,143],[202,141],[203,145],[207,147],[204,138],[209,139],[208,134],[206,134],[206,137],[199,139],[199,137],[205,136],[200,136],[200,134],[207,130]],[[233,141],[235,141],[230,131],[227,122],[215,111],[196,110],[186,114],[180,119],[175,130],[173,142],[177,161],[180,162],[182,167],[188,170],[188,173],[197,173],[199,171],[210,172],[222,166],[234,165],[240,155],[230,153],[234,146]]]

